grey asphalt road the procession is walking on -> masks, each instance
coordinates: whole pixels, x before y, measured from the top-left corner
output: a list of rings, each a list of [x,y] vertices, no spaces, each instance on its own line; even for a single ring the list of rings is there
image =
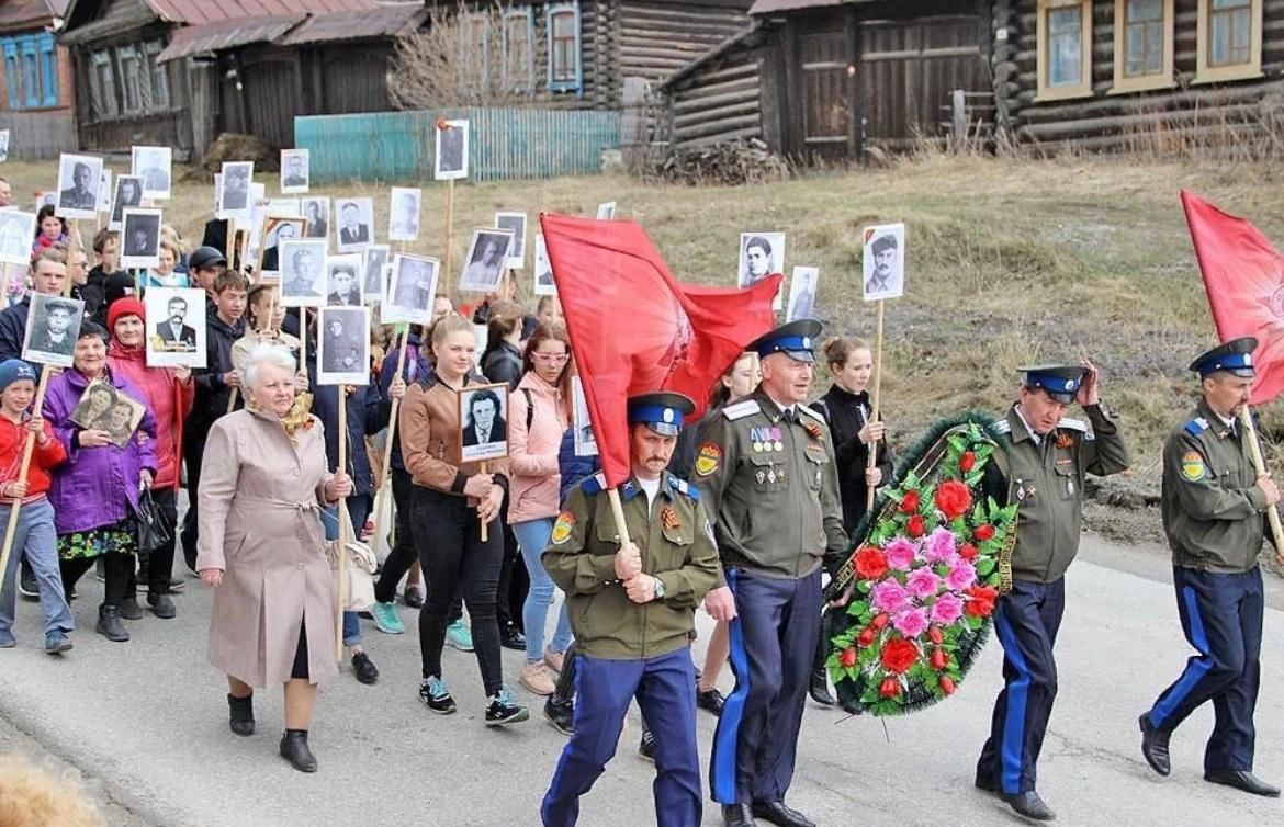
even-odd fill
[[[1058,646],[1061,692],[1040,763],[1040,792],[1062,824],[1280,823],[1279,800],[1216,787],[1201,777],[1211,710],[1172,741],[1174,773],[1154,776],[1139,753],[1138,714],[1190,654],[1157,555],[1085,538],[1068,578]],[[1089,562],[1093,560],[1094,562]],[[1106,568],[1130,561],[1124,571]],[[1278,587],[1275,583],[1274,587]],[[227,729],[225,684],[205,661],[209,593],[190,582],[180,616],[130,623],[134,640],[94,634],[101,586],[86,578],[73,604],[81,631],[59,660],[44,655],[39,607],[23,602],[19,646],[0,651],[0,750],[21,749],[77,768],[114,826],[444,827],[538,824],[539,799],[565,738],[533,704],[529,723],[483,726],[480,677],[470,654],[448,650],[447,679],[460,714],[437,717],[417,700],[417,634],[389,637],[363,624],[383,670],[372,687],[345,670],[321,692],[311,742],[321,764],[294,772],[276,755],[280,692],[258,696],[258,733]],[[1279,589],[1275,589],[1278,597]],[[1284,613],[1267,610],[1257,772],[1284,781]],[[404,611],[407,622],[412,613]],[[700,614],[701,632],[710,622]],[[697,643],[702,655],[702,643]],[[516,684],[519,652],[505,651]],[[999,687],[990,643],[958,695],[904,719],[845,718],[809,706],[790,804],[819,824],[1018,823],[972,788],[977,751]],[[729,690],[731,675],[723,675]],[[715,719],[698,714],[707,749]],[[583,803],[586,826],[651,824],[654,765],[636,754],[630,717],[618,756]],[[706,778],[707,783],[707,778]],[[705,824],[720,824],[716,805]]]

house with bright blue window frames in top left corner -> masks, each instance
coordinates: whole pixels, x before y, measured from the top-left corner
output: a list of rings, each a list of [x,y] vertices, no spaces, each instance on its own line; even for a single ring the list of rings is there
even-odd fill
[[[0,130],[9,130],[10,158],[56,158],[76,148],[71,59],[53,33],[65,6],[67,0],[0,1]]]

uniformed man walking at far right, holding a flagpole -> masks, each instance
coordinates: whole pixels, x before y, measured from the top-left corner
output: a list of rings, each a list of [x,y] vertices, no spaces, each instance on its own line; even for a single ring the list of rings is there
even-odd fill
[[[1163,530],[1172,548],[1172,584],[1181,631],[1198,655],[1141,715],[1141,754],[1167,776],[1168,738],[1199,705],[1216,710],[1204,749],[1204,778],[1278,796],[1253,774],[1253,708],[1262,649],[1262,573],[1257,555],[1263,514],[1280,500],[1251,461],[1238,421],[1253,385],[1257,339],[1216,347],[1190,365],[1203,398],[1163,444]]]

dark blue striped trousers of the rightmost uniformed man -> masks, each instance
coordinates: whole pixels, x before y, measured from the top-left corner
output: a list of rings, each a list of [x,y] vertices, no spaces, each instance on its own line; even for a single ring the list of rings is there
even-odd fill
[[[1212,737],[1204,772],[1253,768],[1253,709],[1261,683],[1262,571],[1217,574],[1174,568],[1181,631],[1197,655],[1159,695],[1150,724],[1171,732],[1202,704],[1212,701]]]

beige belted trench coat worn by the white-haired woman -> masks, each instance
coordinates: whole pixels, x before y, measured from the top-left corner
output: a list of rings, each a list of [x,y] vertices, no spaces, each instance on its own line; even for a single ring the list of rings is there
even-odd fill
[[[295,433],[259,411],[220,417],[200,467],[196,569],[221,569],[209,661],[250,686],[290,678],[307,622],[312,683],[338,673],[335,580],[318,503],[331,474],[321,421]]]

